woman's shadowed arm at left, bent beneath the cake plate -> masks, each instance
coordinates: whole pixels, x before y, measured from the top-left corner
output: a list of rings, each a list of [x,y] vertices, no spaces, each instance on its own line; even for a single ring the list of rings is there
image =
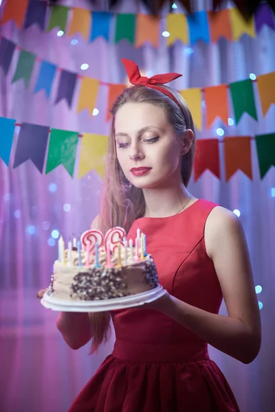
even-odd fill
[[[98,229],[98,216],[92,222],[91,229]],[[93,337],[91,319],[86,312],[60,312],[56,326],[72,349],[79,349]]]

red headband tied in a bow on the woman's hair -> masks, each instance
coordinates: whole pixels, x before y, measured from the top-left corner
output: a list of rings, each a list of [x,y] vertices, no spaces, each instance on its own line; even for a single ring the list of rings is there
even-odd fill
[[[182,76],[182,74],[179,73],[164,73],[164,74],[156,74],[155,76],[151,78],[147,78],[146,76],[140,76],[140,69],[137,67],[135,62],[132,62],[132,60],[126,60],[126,58],[122,58],[122,63],[126,69],[126,73],[129,77],[129,82],[131,84],[142,84],[143,86],[146,87],[151,87],[151,89],[157,89],[158,91],[161,91],[162,93],[166,94],[169,96],[169,98],[173,99],[174,102],[177,103],[177,105],[181,108],[179,102],[177,99],[173,96],[170,91],[158,87],[158,84],[166,84],[170,82],[171,80],[175,80],[179,77]],[[181,108],[182,110],[182,108]]]

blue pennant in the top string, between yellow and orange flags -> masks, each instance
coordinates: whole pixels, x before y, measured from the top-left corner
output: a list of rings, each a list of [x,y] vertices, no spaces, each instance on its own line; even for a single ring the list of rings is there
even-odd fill
[[[209,30],[207,12],[195,12],[187,15],[189,26],[190,44],[194,45],[198,40],[209,43]]]

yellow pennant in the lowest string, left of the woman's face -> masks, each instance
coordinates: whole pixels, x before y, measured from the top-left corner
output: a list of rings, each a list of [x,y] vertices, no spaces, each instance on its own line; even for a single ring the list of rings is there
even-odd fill
[[[104,178],[107,146],[108,136],[94,135],[94,133],[83,133],[78,179],[93,169],[98,172],[102,179]]]

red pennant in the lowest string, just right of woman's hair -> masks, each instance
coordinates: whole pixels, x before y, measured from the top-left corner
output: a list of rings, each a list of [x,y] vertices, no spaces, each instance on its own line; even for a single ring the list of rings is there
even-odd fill
[[[218,139],[197,139],[196,141],[194,180],[197,181],[207,169],[220,179]]]

